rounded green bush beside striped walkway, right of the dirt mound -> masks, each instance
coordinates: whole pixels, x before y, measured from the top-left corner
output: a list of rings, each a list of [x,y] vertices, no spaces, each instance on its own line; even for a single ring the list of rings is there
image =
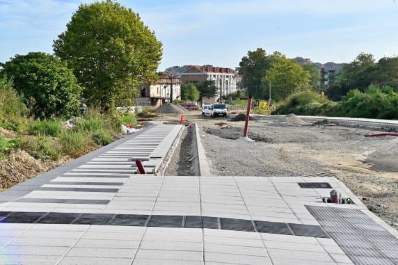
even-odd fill
[[[90,136],[81,132],[67,131],[59,137],[61,150],[72,158],[77,158],[93,150],[95,143]]]

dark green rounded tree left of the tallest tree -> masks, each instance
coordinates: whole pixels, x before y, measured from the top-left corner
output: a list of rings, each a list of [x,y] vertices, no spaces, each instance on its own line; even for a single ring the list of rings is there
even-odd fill
[[[67,64],[42,52],[16,55],[2,64],[1,74],[13,77],[14,88],[38,118],[73,115],[81,88]]]

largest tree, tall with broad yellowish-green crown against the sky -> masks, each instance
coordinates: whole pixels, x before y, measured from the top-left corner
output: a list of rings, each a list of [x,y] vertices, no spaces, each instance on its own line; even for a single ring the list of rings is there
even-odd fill
[[[53,47],[74,70],[88,102],[104,109],[137,97],[136,87],[154,76],[162,54],[139,15],[111,0],[81,4]]]

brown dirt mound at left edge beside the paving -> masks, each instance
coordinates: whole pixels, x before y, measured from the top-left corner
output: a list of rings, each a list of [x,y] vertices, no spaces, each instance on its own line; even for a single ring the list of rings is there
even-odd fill
[[[11,153],[8,159],[0,161],[0,191],[55,168],[64,162],[39,161],[27,152],[17,150]]]

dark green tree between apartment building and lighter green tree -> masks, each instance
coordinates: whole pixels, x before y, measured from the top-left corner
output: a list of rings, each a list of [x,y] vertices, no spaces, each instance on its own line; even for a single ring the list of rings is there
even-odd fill
[[[266,56],[264,49],[257,48],[255,51],[248,51],[237,67],[238,74],[241,75],[241,88],[247,89],[248,95],[255,98],[264,98],[264,88],[262,77],[264,72],[270,67],[269,56]]]

